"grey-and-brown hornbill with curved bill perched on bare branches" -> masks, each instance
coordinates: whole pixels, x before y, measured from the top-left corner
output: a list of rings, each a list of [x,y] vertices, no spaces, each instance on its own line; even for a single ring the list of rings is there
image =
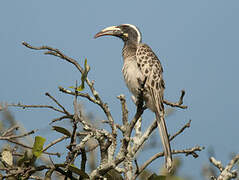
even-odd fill
[[[164,149],[165,167],[170,172],[173,161],[169,135],[164,119],[163,98],[165,83],[160,60],[147,44],[142,43],[141,32],[135,25],[121,24],[110,26],[98,32],[94,38],[101,36],[115,36],[123,40],[122,72],[125,83],[137,99],[142,82],[144,82],[143,100],[146,107],[155,113]]]

